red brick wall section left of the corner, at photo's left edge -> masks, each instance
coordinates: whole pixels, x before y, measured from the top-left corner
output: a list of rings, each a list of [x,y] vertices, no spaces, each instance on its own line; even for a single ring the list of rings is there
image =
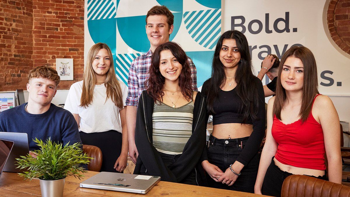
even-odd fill
[[[25,89],[33,69],[33,1],[0,2],[0,91]]]

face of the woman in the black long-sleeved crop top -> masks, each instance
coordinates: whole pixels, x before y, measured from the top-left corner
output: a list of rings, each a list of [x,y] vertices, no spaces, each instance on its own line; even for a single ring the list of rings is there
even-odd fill
[[[220,50],[220,61],[226,68],[236,67],[241,59],[235,39],[224,39]]]

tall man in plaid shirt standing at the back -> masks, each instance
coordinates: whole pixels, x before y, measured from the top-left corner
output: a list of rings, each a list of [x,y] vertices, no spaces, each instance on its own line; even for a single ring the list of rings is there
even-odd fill
[[[148,79],[148,68],[154,50],[161,44],[169,41],[174,29],[174,15],[165,6],[154,6],[146,15],[146,34],[151,44],[147,53],[138,56],[131,63],[128,79],[128,97],[126,98],[126,116],[129,141],[129,155],[134,163],[139,153],[135,145],[136,111],[139,97],[147,89],[144,83]],[[193,90],[197,91],[197,70],[193,61],[188,58],[192,74]]]

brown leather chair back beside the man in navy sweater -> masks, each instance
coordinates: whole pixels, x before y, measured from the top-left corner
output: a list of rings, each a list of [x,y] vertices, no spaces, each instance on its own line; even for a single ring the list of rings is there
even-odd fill
[[[90,171],[99,172],[102,165],[102,151],[100,148],[92,145],[83,144],[83,152],[86,153],[90,159],[90,163],[87,164],[87,169]]]

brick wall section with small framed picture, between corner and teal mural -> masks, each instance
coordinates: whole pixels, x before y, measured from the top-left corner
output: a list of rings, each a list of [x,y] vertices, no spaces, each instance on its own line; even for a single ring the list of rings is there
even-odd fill
[[[74,81],[61,81],[69,89],[82,80],[84,69],[84,0],[33,0],[33,63],[56,69],[56,58],[73,58]]]

